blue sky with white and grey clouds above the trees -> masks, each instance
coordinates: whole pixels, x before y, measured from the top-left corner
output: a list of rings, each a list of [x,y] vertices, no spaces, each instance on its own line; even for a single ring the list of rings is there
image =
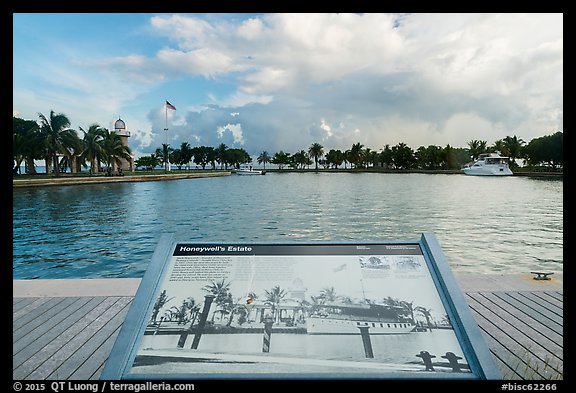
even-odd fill
[[[529,142],[563,130],[563,53],[554,13],[21,13],[13,114],[120,117],[136,157]]]

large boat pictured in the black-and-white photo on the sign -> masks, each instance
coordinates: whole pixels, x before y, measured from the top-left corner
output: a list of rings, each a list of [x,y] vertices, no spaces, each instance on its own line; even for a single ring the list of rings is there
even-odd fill
[[[401,307],[383,304],[324,304],[306,318],[307,334],[407,334],[416,327]]]

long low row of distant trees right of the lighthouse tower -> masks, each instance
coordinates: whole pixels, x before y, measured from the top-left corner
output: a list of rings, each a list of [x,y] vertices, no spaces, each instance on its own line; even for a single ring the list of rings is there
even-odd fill
[[[256,161],[266,169],[267,164],[277,165],[279,170],[286,167],[292,169],[310,168],[314,164],[317,170],[342,168],[386,168],[386,169],[460,169],[464,164],[476,160],[480,154],[500,152],[503,156],[510,157],[510,166],[518,167],[517,160],[523,160],[524,166],[543,166],[552,169],[564,167],[563,156],[563,133],[556,132],[553,135],[532,139],[526,143],[517,136],[507,136],[497,140],[493,145],[488,145],[485,140],[472,140],[467,148],[455,148],[450,145],[445,147],[429,145],[420,146],[413,150],[405,143],[395,146],[386,145],[380,151],[372,150],[361,143],[354,143],[350,149],[325,150],[320,143],[313,143],[308,150],[299,150],[288,153],[280,150],[273,155],[267,151],[261,152]],[[144,156],[136,160],[136,165],[148,169],[165,165],[170,162],[181,169],[190,163],[195,163],[206,169],[239,168],[243,164],[252,163],[252,157],[244,149],[231,149],[221,143],[218,147],[198,146],[191,147],[188,142],[183,142],[178,149],[172,149],[163,144],[162,148],[154,154]]]

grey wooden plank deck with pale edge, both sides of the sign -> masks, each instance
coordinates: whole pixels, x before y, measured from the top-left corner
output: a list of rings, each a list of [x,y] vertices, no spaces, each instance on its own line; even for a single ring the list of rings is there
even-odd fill
[[[561,274],[455,276],[503,379],[563,379]],[[98,379],[139,282],[14,281],[13,379]]]

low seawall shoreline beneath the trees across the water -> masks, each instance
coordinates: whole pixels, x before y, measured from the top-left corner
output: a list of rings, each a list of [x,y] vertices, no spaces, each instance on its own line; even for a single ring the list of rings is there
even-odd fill
[[[264,170],[264,169],[263,169]],[[138,182],[138,181],[160,181],[160,180],[177,180],[177,179],[193,179],[193,178],[206,178],[218,176],[230,176],[234,174],[234,170],[193,170],[193,171],[180,171],[173,170],[170,173],[154,173],[154,172],[125,172],[123,176],[107,176],[104,173],[96,175],[89,175],[86,173],[71,174],[63,173],[60,176],[48,176],[46,174],[37,175],[16,175],[12,179],[13,187],[34,187],[34,186],[61,186],[61,185],[76,185],[76,184],[98,184],[98,183],[124,183],[124,182]],[[444,174],[444,175],[464,175],[460,170],[424,170],[424,169],[265,169],[265,172],[276,173],[307,173],[307,172],[323,172],[323,173],[422,173],[422,174]],[[563,172],[514,172],[514,176],[528,176],[528,177],[547,177],[547,178],[563,178]]]

